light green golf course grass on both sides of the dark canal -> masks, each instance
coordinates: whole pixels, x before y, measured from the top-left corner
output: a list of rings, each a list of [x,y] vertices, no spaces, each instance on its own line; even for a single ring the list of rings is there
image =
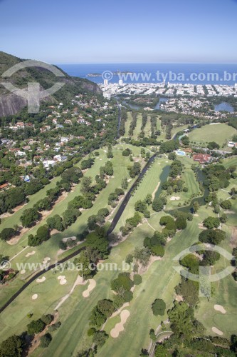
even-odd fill
[[[133,156],[139,157],[140,148],[138,147],[127,144],[120,144],[114,147],[114,158],[112,159],[112,163],[115,171],[115,177],[110,178],[110,182],[107,184],[107,187],[100,193],[98,198],[96,198],[93,208],[90,208],[88,211],[83,211],[82,216],[80,216],[72,226],[70,226],[63,233],[54,235],[49,241],[43,243],[42,246],[28,248],[23,251],[14,259],[14,262],[42,261],[46,256],[51,257],[51,261],[57,258],[56,253],[58,251],[58,241],[60,241],[63,237],[74,236],[80,231],[83,231],[88,217],[97,213],[99,208],[106,207],[107,197],[110,192],[120,186],[123,177],[128,177],[127,166],[131,163],[127,157],[122,156],[122,150],[124,150],[125,147],[130,147],[130,149],[132,149]],[[179,159],[185,165],[183,178],[186,182],[186,186],[189,188],[189,191],[184,193],[184,196],[181,196],[183,193],[174,193],[174,196],[181,196],[181,200],[169,201],[169,203],[167,203],[168,208],[175,208],[179,202],[183,202],[189,198],[191,194],[199,192],[198,183],[195,180],[193,171],[191,171],[191,164],[194,162],[189,158]],[[142,164],[144,164],[141,158],[139,158],[139,160]],[[105,161],[107,161],[107,157],[105,151],[102,149],[100,150],[99,159],[95,160],[95,165],[86,172],[85,176],[95,177],[95,175],[98,174],[100,166],[102,166]],[[234,161],[225,160],[224,164],[227,167],[232,165],[233,162]],[[171,161],[168,159],[156,159],[154,161],[154,164],[152,164],[149,168],[147,174],[144,176],[142,182],[139,184],[139,187],[127,204],[120,221],[115,227],[116,232],[119,231],[120,226],[124,225],[125,220],[135,213],[135,202],[139,199],[143,199],[147,196],[147,193],[154,192],[160,181],[162,170],[170,163]],[[231,181],[230,187],[236,185],[236,183],[236,180]],[[130,182],[130,185],[131,184],[132,181]],[[228,188],[226,188],[226,191],[218,191],[219,198],[227,198]],[[70,193],[68,197],[65,198],[65,201],[63,201],[62,204],[58,204],[52,214],[60,214],[65,211],[68,201],[73,199],[74,196],[77,196],[79,192],[80,184],[76,186],[74,192]],[[233,209],[237,212],[236,203],[237,200],[233,203]],[[114,295],[110,290],[110,281],[117,277],[117,274],[121,271],[122,262],[125,261],[127,254],[132,253],[136,246],[142,247],[144,237],[152,236],[154,230],[161,230],[159,220],[163,215],[164,212],[152,212],[152,216],[147,218],[147,221],[144,220],[141,225],[135,228],[125,241],[112,248],[110,257],[106,260],[106,263],[116,263],[117,270],[104,269],[102,271],[98,271],[95,275],[97,285],[88,298],[83,298],[82,296],[82,293],[86,290],[87,286],[77,286],[75,288],[75,291],[71,294],[71,296],[63,303],[62,306],[60,306],[60,308],[58,308],[59,321],[61,321],[62,326],[57,331],[52,333],[53,341],[50,346],[46,350],[38,348],[32,356],[77,356],[78,351],[89,348],[92,345],[92,340],[87,335],[88,328],[90,327],[88,325],[90,312],[96,303],[102,298],[113,298]],[[199,223],[201,223],[201,221],[208,216],[216,216],[213,213],[213,208],[201,206],[199,208],[198,215],[194,216],[193,221],[188,222],[187,228],[184,231],[179,231],[176,236],[174,236],[174,238],[167,243],[164,257],[161,260],[152,263],[149,269],[142,274],[142,283],[135,287],[134,297],[130,302],[130,306],[126,308],[130,311],[130,317],[125,323],[125,331],[120,333],[118,338],[112,338],[110,336],[105,343],[105,346],[98,350],[99,357],[124,357],[127,355],[137,357],[139,356],[141,348],[148,347],[150,328],[156,329],[157,326],[159,326],[159,323],[167,318],[167,313],[165,313],[164,316],[154,316],[152,314],[151,305],[156,298],[162,298],[167,305],[167,310],[172,307],[175,298],[174,287],[177,286],[177,283],[180,281],[179,274],[174,271],[173,268],[173,266],[177,265],[173,259],[178,253],[198,241],[198,236],[201,232]],[[230,223],[234,223],[235,217],[236,216],[234,215],[228,215],[228,222],[223,226],[223,229],[227,233],[227,238],[226,241],[222,243],[222,246],[229,252],[231,252],[232,249],[230,242],[233,244],[233,227],[231,227]],[[36,228],[33,229],[36,230]],[[12,256],[14,253],[21,251],[23,246],[26,246],[26,239],[27,235],[21,238],[21,241],[19,241],[16,246],[9,246],[7,243],[1,243],[2,246],[0,246],[0,248],[3,250],[7,248],[9,255]],[[35,250],[36,254],[26,259],[26,253],[32,250]],[[221,271],[228,265],[229,262],[224,258],[221,258],[220,261],[216,263],[212,273],[214,273],[214,271]],[[65,294],[67,294],[72,288],[77,274],[77,271],[70,271],[69,268],[63,272],[49,271],[44,274],[46,281],[43,283],[31,283],[31,285],[28,286],[28,288],[26,288],[26,290],[23,291],[23,293],[21,293],[21,295],[16,298],[13,303],[11,303],[11,306],[6,308],[6,310],[1,313],[0,341],[13,335],[14,333],[21,333],[26,330],[26,325],[30,321],[30,319],[26,317],[27,313],[33,313],[33,319],[39,318],[43,313],[52,313],[60,301],[60,298],[65,296]],[[61,286],[58,282],[57,277],[59,275],[65,275],[67,279],[67,283],[63,286]],[[13,291],[19,288],[19,286],[21,286],[25,278],[26,276],[24,275],[16,278],[15,281],[6,287],[7,289],[5,289],[5,287],[1,287],[1,303],[4,303],[6,298],[9,297]],[[223,331],[223,337],[229,337],[231,336],[231,333],[237,330],[236,282],[231,276],[228,276],[227,278],[214,283],[213,286],[215,290],[214,296],[212,296],[209,301],[207,301],[206,298],[201,298],[199,309],[196,310],[196,317],[204,324],[207,335],[214,335],[211,328],[216,327]],[[31,299],[33,293],[38,293],[36,301],[32,301]],[[222,305],[226,309],[226,315],[222,315],[221,313],[215,311],[214,304]],[[118,316],[110,318],[105,324],[105,331],[107,331],[110,335],[111,329],[119,321],[120,318]]]

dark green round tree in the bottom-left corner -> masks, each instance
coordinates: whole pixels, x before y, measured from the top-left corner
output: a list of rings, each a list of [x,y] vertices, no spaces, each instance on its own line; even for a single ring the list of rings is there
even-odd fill
[[[1,357],[21,357],[23,353],[24,343],[21,336],[10,336],[6,338],[0,345]]]

